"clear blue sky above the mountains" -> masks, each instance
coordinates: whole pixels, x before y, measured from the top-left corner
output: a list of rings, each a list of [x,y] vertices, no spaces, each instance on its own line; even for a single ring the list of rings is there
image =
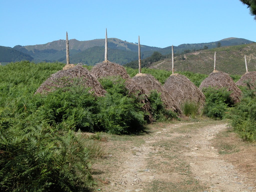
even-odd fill
[[[0,0],[0,45],[119,38],[167,47],[237,37],[256,41],[256,22],[239,0]],[[66,15],[67,14],[67,15]]]

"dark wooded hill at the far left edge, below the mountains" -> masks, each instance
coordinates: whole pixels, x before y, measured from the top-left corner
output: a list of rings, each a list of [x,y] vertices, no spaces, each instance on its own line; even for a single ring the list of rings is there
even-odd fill
[[[33,60],[28,54],[25,54],[21,51],[17,51],[11,47],[0,46],[0,62],[15,62],[22,60]]]

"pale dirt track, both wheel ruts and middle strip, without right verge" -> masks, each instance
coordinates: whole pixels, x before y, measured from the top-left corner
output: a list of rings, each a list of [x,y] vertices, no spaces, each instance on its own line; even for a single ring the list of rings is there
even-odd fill
[[[150,134],[136,137],[145,141],[139,146],[126,142],[122,146],[124,150],[113,154],[113,158],[118,161],[111,161],[112,157],[108,159],[111,162],[106,170],[109,184],[101,186],[101,190],[176,191],[177,186],[183,187],[178,191],[203,191],[202,188],[205,191],[255,191],[248,184],[246,175],[221,159],[217,150],[211,146],[210,140],[226,125],[203,126],[189,133],[179,131],[179,127],[189,124],[192,127],[196,123],[156,127]],[[111,143],[111,146],[115,145]],[[179,167],[179,164],[184,164],[184,167]],[[183,170],[185,174],[181,173],[185,167],[188,167]],[[104,177],[104,174],[100,176]],[[184,183],[193,179],[198,184],[190,186]],[[154,182],[160,182],[166,188],[152,189]]]

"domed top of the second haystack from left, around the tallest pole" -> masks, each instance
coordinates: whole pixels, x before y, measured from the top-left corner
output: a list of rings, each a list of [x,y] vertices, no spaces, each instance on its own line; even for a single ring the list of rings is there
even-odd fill
[[[123,79],[130,78],[129,74],[123,66],[110,61],[97,63],[91,69],[90,73],[96,78],[108,76],[121,76]]]

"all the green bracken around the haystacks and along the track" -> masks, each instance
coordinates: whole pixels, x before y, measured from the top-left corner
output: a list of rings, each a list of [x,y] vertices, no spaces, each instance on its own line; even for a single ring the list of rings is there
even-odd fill
[[[89,89],[70,85],[48,94],[34,94],[63,63],[22,61],[0,66],[0,180],[1,191],[87,191],[91,177],[92,148],[82,131],[111,134],[141,133],[148,115],[156,121],[177,118],[165,110],[160,93],[152,91],[150,110],[143,110],[143,95],[137,97],[118,77],[100,79],[105,97],[94,97]],[[136,69],[126,68],[134,76]],[[142,69],[161,83],[164,70]],[[184,72],[197,86],[206,75]],[[233,105],[226,90],[205,89],[204,114],[230,118],[240,136],[255,141],[255,90],[243,89],[244,97]],[[198,108],[187,103],[183,111],[196,118]]]

